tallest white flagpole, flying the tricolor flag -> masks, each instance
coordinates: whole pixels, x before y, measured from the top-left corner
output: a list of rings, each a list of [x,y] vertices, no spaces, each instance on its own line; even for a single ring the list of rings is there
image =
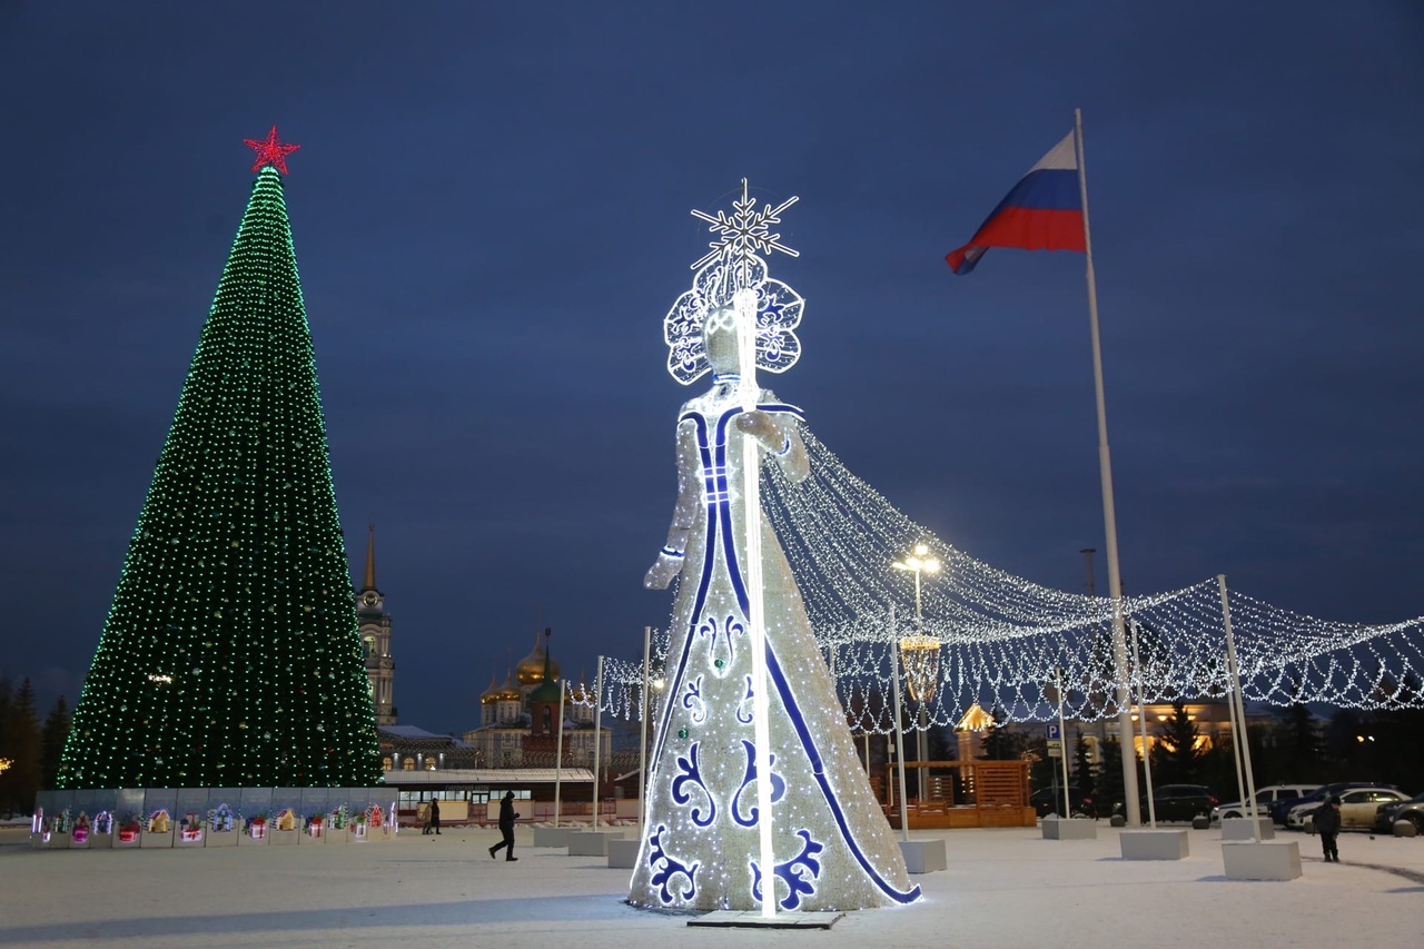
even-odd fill
[[[1122,795],[1128,826],[1142,825],[1138,802],[1138,762],[1132,750],[1132,694],[1128,685],[1128,636],[1122,616],[1122,571],[1118,569],[1118,516],[1112,507],[1112,455],[1108,450],[1108,402],[1102,393],[1102,345],[1098,342],[1098,278],[1092,271],[1092,231],[1088,227],[1088,168],[1084,162],[1082,110],[1074,113],[1078,151],[1078,192],[1082,198],[1082,244],[1088,254],[1088,323],[1092,328],[1092,382],[1098,396],[1098,473],[1102,480],[1102,527],[1108,534],[1108,594],[1112,597],[1112,664],[1118,678],[1118,742],[1122,748]],[[1145,754],[1145,752],[1143,752]]]

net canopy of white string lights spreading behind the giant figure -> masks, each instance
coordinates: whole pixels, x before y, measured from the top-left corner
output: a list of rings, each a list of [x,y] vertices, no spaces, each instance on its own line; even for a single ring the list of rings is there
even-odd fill
[[[792,483],[768,466],[762,503],[822,653],[836,671],[853,728],[893,731],[891,638],[914,643],[916,636],[934,637],[940,645],[933,650],[938,675],[936,693],[926,700],[928,720],[911,722],[913,728],[956,727],[975,705],[1001,721],[1055,718],[1057,704],[1048,695],[1055,668],[1062,668],[1065,715],[1081,721],[1116,717],[1111,598],[1052,590],[975,560],[896,510],[810,430],[803,427],[802,439],[810,474]],[[921,556],[934,557],[943,570],[923,590],[923,624],[913,618],[913,571],[887,566],[917,543],[927,549]],[[1424,707],[1424,617],[1374,626],[1330,621],[1240,591],[1229,596],[1246,701]],[[894,628],[887,621],[891,604]],[[1126,597],[1124,608],[1139,628],[1149,702],[1227,694],[1216,579]],[[621,668],[607,667],[609,681],[632,688],[635,667],[628,667],[632,673]],[[607,711],[637,708],[617,693],[617,685],[608,690]]]

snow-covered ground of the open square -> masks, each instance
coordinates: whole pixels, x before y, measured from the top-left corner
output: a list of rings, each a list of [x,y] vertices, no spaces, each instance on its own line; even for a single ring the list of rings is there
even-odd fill
[[[494,829],[333,846],[199,851],[31,851],[0,828],[0,946],[568,946],[679,949],[795,942],[822,949],[1418,948],[1424,838],[1344,834],[1340,865],[1300,844],[1304,876],[1229,882],[1220,832],[1190,831],[1192,855],[1122,861],[1118,832],[1044,841],[1037,829],[944,836],[950,869],[916,876],[913,906],[849,913],[830,930],[688,928],[625,906],[628,871],[533,849],[491,861]],[[1280,838],[1277,838],[1280,839]]]

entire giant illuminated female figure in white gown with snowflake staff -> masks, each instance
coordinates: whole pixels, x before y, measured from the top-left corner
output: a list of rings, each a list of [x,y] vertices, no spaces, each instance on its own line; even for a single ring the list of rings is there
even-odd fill
[[[756,383],[758,368],[800,356],[805,301],[758,256],[796,255],[769,232],[795,201],[756,211],[743,180],[731,217],[693,211],[716,239],[664,321],[672,376],[711,372],[712,388],[678,416],[678,502],[644,579],[662,590],[676,577],[678,590],[637,906],[765,916],[920,896],[760,510],[760,465],[807,473],[800,410]]]

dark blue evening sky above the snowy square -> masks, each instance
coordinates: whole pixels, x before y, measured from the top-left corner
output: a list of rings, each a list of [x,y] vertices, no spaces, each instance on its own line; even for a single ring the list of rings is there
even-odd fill
[[[474,727],[545,626],[591,678],[666,623],[705,380],[662,318],[742,177],[800,195],[778,395],[938,537],[1085,591],[1084,256],[943,259],[1075,107],[1126,590],[1418,616],[1421,48],[1413,3],[6,3],[0,675],[78,697],[272,124],[402,724]]]

